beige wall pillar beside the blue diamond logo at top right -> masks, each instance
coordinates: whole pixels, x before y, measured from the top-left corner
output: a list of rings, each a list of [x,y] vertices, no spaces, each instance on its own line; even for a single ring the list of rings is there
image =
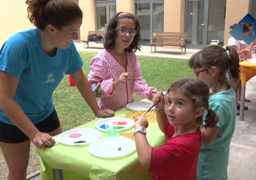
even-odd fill
[[[238,23],[247,13],[251,13],[251,7],[251,0],[227,0],[224,46],[228,44],[228,39],[232,37],[229,34],[229,26]]]

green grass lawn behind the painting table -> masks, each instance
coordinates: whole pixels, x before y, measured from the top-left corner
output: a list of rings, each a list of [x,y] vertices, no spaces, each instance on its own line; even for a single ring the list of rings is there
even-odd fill
[[[80,52],[84,61],[83,70],[89,74],[90,60],[97,54],[94,52]],[[178,79],[194,78],[194,73],[187,66],[186,59],[138,56],[143,78],[147,84],[158,90],[166,91]],[[58,112],[63,131],[72,129],[94,119],[95,115],[83,100],[76,87],[70,87],[68,76],[65,76],[53,94],[54,105]],[[135,101],[140,96],[134,95]],[[35,146],[30,146],[30,159],[27,174],[40,169],[39,159]],[[7,179],[8,168],[0,149],[0,180]]]

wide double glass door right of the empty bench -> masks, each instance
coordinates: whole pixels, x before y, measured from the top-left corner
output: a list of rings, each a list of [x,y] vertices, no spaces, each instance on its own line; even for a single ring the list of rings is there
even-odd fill
[[[186,0],[187,47],[202,49],[212,41],[224,44],[226,0]]]

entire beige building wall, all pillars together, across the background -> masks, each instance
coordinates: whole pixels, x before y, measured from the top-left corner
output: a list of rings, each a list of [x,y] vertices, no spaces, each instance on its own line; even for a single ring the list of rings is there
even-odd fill
[[[0,47],[12,34],[33,28],[27,18],[26,0],[4,1],[0,6],[1,36]],[[83,11],[83,23],[80,28],[81,39],[88,31],[95,31],[94,0],[73,0],[79,3]],[[164,31],[184,32],[185,0],[164,1]],[[224,44],[228,42],[229,26],[238,23],[247,13],[251,13],[252,0],[227,0]],[[134,14],[134,0],[116,0],[117,12]],[[170,48],[170,47],[165,47]],[[176,48],[176,47],[172,47]]]

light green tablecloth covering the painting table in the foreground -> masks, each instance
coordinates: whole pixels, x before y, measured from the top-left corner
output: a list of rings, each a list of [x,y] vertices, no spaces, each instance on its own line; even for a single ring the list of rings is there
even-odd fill
[[[125,113],[130,111],[123,108],[116,111],[115,116],[125,117]],[[95,128],[95,123],[101,119],[88,122],[77,128]],[[134,128],[130,129],[130,131],[133,130]],[[166,142],[166,137],[159,130],[157,123],[149,123],[146,136],[152,147],[160,147]],[[102,132],[101,138],[104,137],[106,137],[106,133]],[[63,169],[65,180],[151,179],[152,174],[141,166],[136,151],[123,159],[105,160],[94,157],[87,148],[88,145],[66,146],[61,143],[53,147],[37,148],[41,165],[40,179],[52,180],[53,168]]]

